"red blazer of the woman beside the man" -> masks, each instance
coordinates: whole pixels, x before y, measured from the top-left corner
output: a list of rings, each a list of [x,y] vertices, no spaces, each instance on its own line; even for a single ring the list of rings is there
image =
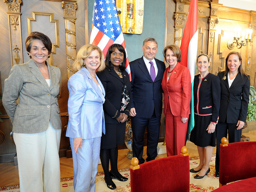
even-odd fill
[[[169,68],[164,71],[162,89],[164,91],[164,114],[167,101],[174,116],[187,117],[190,114],[191,76],[187,67],[177,63],[168,82]]]

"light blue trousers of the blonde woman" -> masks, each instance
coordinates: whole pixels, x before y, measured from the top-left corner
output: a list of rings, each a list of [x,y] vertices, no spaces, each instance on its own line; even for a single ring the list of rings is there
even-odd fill
[[[78,147],[78,153],[75,153],[74,138],[70,138],[75,192],[95,192],[95,180],[100,158],[100,140],[101,137],[83,139],[82,147]]]

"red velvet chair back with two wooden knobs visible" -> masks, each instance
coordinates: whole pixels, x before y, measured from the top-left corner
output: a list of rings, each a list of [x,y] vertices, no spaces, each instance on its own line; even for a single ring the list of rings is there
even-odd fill
[[[187,148],[176,156],[164,157],[138,165],[131,160],[131,192],[189,192],[189,157]]]

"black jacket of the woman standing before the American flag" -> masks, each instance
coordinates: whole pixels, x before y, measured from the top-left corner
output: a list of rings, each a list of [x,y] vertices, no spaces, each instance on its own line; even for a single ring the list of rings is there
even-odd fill
[[[121,79],[114,69],[106,68],[102,72],[97,73],[98,78],[102,82],[106,96],[103,104],[103,110],[105,115],[105,122],[110,124],[118,124],[116,120],[120,116],[121,101],[123,87],[126,85],[128,94],[131,99],[131,83],[129,75],[126,71],[122,72],[123,78]],[[126,106],[124,114],[130,115],[131,101]]]

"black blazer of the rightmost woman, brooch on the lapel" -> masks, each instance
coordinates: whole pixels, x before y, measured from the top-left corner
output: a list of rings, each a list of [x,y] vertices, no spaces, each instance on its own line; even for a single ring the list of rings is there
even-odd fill
[[[219,111],[219,122],[225,122],[227,118],[227,123],[236,124],[238,120],[246,122],[246,116],[248,111],[248,102],[250,94],[250,76],[242,79],[241,73],[238,72],[232,85],[228,86],[228,74],[224,71],[219,72],[218,76],[220,78],[220,111]]]

